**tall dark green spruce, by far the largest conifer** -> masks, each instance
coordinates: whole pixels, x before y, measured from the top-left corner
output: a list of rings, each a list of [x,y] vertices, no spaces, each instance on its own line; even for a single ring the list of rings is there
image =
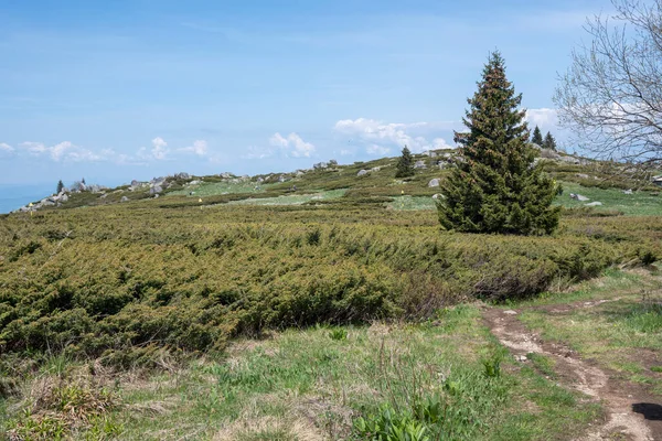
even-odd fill
[[[468,131],[455,133],[459,158],[441,184],[437,208],[446,229],[533,235],[558,225],[560,208],[552,207],[556,184],[534,165],[521,101],[501,54],[490,54],[468,99]]]

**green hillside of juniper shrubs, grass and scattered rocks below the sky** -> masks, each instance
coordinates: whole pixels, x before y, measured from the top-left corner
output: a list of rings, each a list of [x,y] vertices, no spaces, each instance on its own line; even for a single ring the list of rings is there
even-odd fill
[[[406,180],[396,158],[179,173],[0,216],[0,432],[631,435],[609,426],[624,398],[577,378],[659,400],[660,189],[546,152],[554,235],[442,232],[445,154]]]

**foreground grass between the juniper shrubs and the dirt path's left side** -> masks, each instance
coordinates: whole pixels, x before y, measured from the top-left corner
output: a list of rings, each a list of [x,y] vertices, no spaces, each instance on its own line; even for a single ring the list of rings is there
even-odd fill
[[[500,374],[485,375],[494,359]],[[121,405],[103,413],[103,428],[89,424],[77,437],[105,428],[105,439],[122,440],[354,439],[359,418],[385,407],[409,415],[433,400],[445,412],[424,423],[435,439],[560,440],[600,412],[515,364],[471,305],[418,325],[317,326],[238,340],[223,359],[122,377],[113,394]],[[0,424],[11,427],[19,415],[13,410]]]

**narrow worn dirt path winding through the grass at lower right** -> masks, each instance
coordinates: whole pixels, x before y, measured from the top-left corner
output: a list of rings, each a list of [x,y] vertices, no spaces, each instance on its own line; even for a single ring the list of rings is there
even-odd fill
[[[590,308],[588,303],[568,306]],[[608,370],[583,361],[563,344],[543,342],[517,320],[517,311],[492,308],[484,311],[483,319],[492,334],[510,348],[517,361],[528,363],[528,353],[553,358],[560,384],[601,401],[607,411],[607,420],[599,422],[597,429],[578,441],[662,441],[662,406],[659,399],[652,398],[641,386],[619,380]]]

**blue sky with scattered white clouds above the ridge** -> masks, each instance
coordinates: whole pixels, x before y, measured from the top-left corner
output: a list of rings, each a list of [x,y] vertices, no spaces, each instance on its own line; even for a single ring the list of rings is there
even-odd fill
[[[609,0],[2,0],[0,184],[453,147],[491,51],[530,123]]]

